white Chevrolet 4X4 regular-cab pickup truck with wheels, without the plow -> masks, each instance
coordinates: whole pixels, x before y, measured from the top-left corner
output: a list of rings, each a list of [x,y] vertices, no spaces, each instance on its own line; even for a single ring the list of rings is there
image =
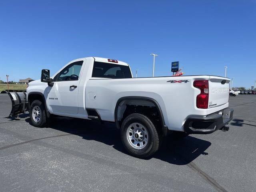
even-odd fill
[[[163,136],[182,138],[228,130],[229,78],[209,75],[133,78],[127,63],[80,58],[50,78],[28,84],[31,123],[43,127],[52,114],[115,122],[133,156],[154,154]]]

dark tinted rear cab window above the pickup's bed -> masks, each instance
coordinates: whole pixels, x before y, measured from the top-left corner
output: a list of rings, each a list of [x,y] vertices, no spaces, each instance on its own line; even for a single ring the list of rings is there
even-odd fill
[[[132,78],[129,66],[95,61],[92,77],[98,78]]]

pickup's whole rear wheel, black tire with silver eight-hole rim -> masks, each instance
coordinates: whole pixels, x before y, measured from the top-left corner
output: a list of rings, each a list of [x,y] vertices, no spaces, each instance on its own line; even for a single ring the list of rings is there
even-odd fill
[[[127,116],[120,129],[121,140],[129,154],[148,158],[159,148],[159,136],[152,121],[145,115],[134,113]]]

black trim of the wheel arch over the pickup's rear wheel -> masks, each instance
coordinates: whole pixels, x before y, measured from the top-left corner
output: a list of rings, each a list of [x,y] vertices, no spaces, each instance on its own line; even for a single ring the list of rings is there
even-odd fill
[[[165,122],[164,122],[164,115],[162,113],[161,107],[158,104],[158,102],[156,100],[154,100],[153,98],[149,98],[149,97],[143,97],[143,96],[126,96],[126,97],[122,97],[119,98],[118,101],[116,102],[116,107],[115,107],[115,111],[114,111],[114,118],[115,118],[115,123],[116,123],[116,127],[118,129],[120,129],[120,124],[118,121],[118,106],[121,102],[126,101],[126,100],[140,100],[140,101],[147,101],[147,102],[151,102],[152,104],[154,104],[154,106],[156,107],[158,114],[159,114],[159,118],[160,118],[160,124],[161,124],[161,129],[162,129],[162,133],[166,136],[167,132],[168,132],[168,127],[166,126]]]

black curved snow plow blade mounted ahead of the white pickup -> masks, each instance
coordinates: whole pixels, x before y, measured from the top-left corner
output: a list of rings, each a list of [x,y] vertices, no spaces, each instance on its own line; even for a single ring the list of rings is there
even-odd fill
[[[26,90],[5,90],[1,93],[7,93],[12,101],[12,111],[9,118],[26,112]]]

